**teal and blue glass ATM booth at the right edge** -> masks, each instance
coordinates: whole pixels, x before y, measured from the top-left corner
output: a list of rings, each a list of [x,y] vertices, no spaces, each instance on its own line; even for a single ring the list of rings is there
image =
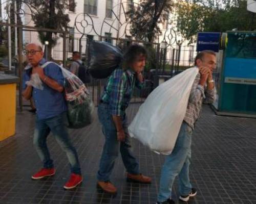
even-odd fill
[[[221,41],[215,112],[256,118],[256,32],[229,31]]]

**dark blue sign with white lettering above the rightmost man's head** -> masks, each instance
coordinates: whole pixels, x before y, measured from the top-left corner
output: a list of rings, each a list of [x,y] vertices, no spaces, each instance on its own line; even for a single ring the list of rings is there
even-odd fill
[[[198,33],[197,52],[212,50],[219,52],[221,33]]]

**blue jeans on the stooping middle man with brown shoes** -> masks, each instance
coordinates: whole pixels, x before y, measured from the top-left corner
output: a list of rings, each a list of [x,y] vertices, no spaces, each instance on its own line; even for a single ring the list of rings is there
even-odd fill
[[[122,116],[122,123],[125,131],[124,142],[117,141],[116,126],[112,119],[108,104],[99,104],[98,116],[102,124],[102,132],[105,136],[105,144],[100,159],[99,171],[97,173],[98,180],[110,180],[110,174],[114,168],[119,149],[127,172],[139,174],[139,164],[131,152],[130,137],[127,134],[128,132],[125,115]]]

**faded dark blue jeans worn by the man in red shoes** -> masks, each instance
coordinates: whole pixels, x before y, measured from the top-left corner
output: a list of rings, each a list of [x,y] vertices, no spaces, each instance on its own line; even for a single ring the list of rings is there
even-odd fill
[[[60,115],[52,118],[40,120],[36,119],[33,144],[38,156],[44,163],[44,168],[53,168],[53,161],[51,160],[50,152],[46,143],[46,139],[51,131],[61,149],[66,152],[70,163],[71,172],[75,174],[81,174],[77,152],[69,138],[66,124],[66,112],[63,112]]]

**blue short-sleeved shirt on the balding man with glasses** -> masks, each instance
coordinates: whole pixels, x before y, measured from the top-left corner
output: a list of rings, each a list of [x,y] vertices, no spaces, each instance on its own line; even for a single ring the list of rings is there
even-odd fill
[[[46,63],[45,59],[42,59],[39,62],[39,65],[43,65]],[[26,82],[30,80],[30,75],[32,73],[32,67],[27,68],[24,71],[23,75],[23,89],[26,89]],[[58,84],[63,86],[64,77],[62,75],[62,71],[58,65],[51,63],[44,68],[44,73],[47,77],[55,80]],[[43,90],[37,89],[33,87],[32,97],[35,102],[36,113],[38,119],[46,119],[55,117],[62,112],[67,110],[66,101],[64,98],[64,94],[60,93],[45,83],[42,83],[44,87]]]

